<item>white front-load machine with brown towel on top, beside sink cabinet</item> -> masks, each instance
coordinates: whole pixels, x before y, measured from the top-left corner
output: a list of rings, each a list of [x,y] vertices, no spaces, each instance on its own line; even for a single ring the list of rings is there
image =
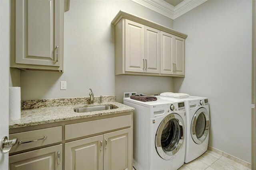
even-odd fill
[[[185,156],[184,100],[140,102],[124,98],[134,107],[133,166],[136,170],[177,170]]]

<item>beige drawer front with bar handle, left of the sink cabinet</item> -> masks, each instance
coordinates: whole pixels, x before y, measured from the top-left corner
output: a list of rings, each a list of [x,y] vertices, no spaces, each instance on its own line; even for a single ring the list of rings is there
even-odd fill
[[[47,139],[43,139],[45,136],[47,136]],[[10,150],[10,153],[12,152],[18,152],[20,150],[26,150],[31,149],[34,147],[41,147],[44,145],[49,145],[52,143],[58,143],[62,142],[62,127],[52,127],[47,129],[40,129],[36,131],[28,131],[28,132],[22,132],[22,133],[14,133],[9,135],[9,139],[17,138],[18,142],[27,142],[27,141],[34,141],[37,139],[40,139],[38,141],[34,142],[28,142],[28,143],[17,143],[12,147]]]

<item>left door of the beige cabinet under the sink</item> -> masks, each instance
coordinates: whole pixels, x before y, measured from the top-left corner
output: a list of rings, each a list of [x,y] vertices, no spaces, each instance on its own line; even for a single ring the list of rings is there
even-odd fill
[[[65,144],[66,170],[103,170],[103,135]]]

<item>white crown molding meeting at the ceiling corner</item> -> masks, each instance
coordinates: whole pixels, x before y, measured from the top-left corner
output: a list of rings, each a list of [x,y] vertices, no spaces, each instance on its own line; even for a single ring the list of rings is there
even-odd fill
[[[172,6],[164,0],[131,0],[137,4],[140,4],[154,12],[162,14],[172,20],[175,20],[179,16],[182,16],[186,12],[196,8],[207,0],[184,0],[177,6]]]

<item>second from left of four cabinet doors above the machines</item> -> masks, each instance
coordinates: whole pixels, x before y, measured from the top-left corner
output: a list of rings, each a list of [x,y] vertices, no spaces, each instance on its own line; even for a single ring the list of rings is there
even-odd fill
[[[160,31],[145,26],[145,72],[160,73]]]

